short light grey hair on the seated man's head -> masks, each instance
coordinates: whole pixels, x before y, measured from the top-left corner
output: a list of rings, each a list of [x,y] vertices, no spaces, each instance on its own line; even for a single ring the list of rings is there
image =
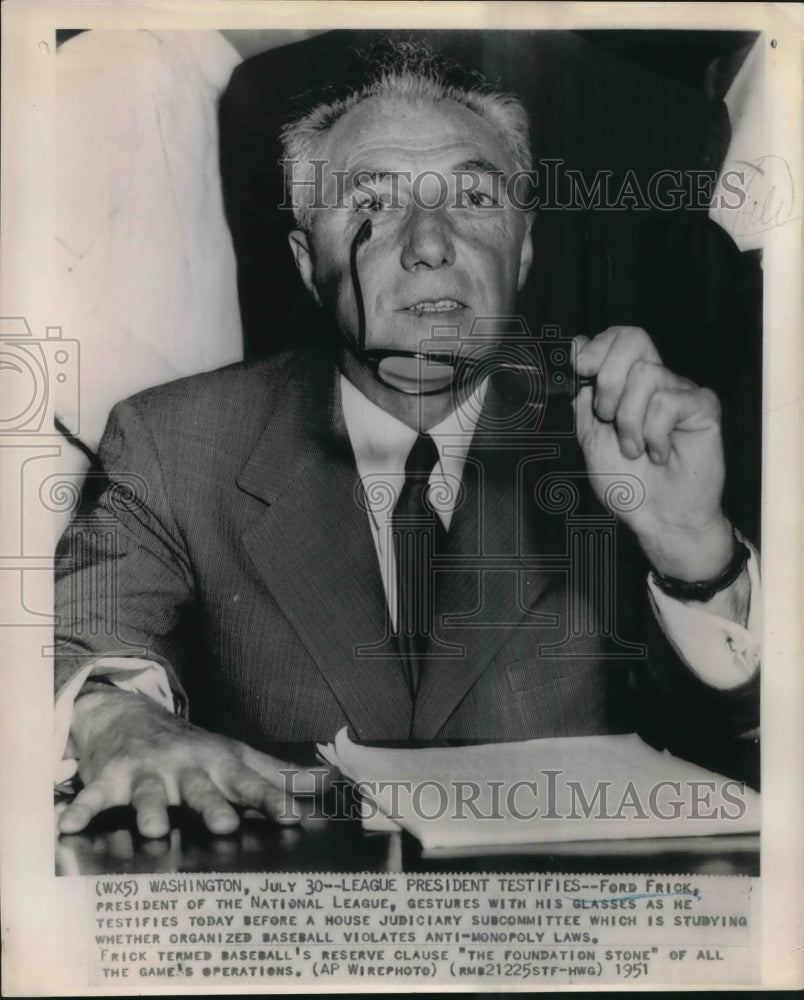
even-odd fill
[[[491,124],[511,155],[516,170],[530,171],[532,158],[528,116],[513,94],[494,91],[479,74],[463,73],[460,83],[445,76],[453,67],[421,45],[396,42],[370,65],[369,81],[344,97],[322,102],[286,124],[280,131],[283,162],[293,216],[309,229],[314,211],[314,160],[323,159],[321,147],[339,118],[373,97],[407,101],[414,105],[455,101]]]

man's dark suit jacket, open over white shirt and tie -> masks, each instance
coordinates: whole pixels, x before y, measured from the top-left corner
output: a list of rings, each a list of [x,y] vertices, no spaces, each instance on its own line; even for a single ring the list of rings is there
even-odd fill
[[[257,747],[345,724],[367,740],[639,729],[677,746],[754,723],[756,684],[708,688],[656,628],[645,567],[588,495],[569,409],[506,423],[516,406],[498,385],[414,703],[336,374],[296,352],[115,407],[109,482],[59,550],[57,685],[87,656],[150,657],[194,722]]]

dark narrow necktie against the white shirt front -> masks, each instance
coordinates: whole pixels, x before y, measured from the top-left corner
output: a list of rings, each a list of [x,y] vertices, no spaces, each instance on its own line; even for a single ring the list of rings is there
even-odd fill
[[[443,551],[446,529],[425,501],[438,448],[419,434],[405,463],[405,483],[394,508],[391,531],[396,553],[397,642],[415,694],[421,661],[433,627],[433,552]]]

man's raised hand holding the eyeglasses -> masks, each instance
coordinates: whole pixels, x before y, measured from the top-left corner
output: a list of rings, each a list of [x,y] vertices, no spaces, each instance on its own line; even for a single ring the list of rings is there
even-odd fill
[[[636,534],[653,568],[682,580],[715,577],[733,549],[723,515],[725,478],[720,404],[662,365],[638,327],[576,337],[575,368],[591,376],[574,402],[590,481],[604,501],[618,475],[637,477],[644,501],[614,510]]]

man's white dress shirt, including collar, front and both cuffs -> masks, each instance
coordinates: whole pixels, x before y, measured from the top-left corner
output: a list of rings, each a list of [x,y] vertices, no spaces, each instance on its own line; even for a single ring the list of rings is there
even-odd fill
[[[441,423],[429,428],[440,455],[428,485],[431,503],[449,530],[466,456],[487,390],[487,380]],[[371,402],[344,376],[340,379],[343,417],[360,476],[380,575],[391,619],[396,624],[396,565],[391,512],[405,481],[405,462],[417,431]],[[712,614],[705,604],[678,601],[662,593],[648,576],[651,605],[670,643],[703,681],[721,690],[750,680],[759,669],[762,634],[758,556],[748,560],[751,601],[746,627]],[[118,687],[148,695],[176,711],[164,668],[134,657],[98,657],[77,673],[56,703],[56,781],[72,778],[77,762],[64,756],[72,704],[84,681],[102,677]]]

